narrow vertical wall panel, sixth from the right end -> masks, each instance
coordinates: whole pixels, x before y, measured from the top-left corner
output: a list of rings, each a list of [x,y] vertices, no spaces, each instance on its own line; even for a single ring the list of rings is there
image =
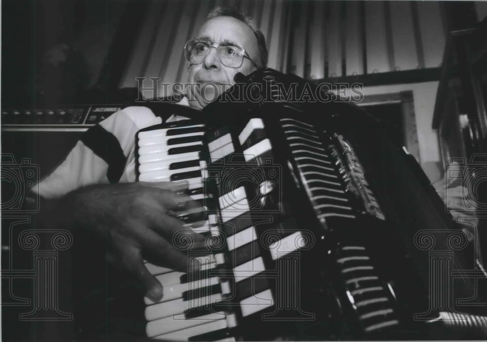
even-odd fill
[[[321,79],[325,77],[325,9],[324,1],[314,1],[313,17],[311,21],[310,44],[308,47],[310,77],[311,79]]]

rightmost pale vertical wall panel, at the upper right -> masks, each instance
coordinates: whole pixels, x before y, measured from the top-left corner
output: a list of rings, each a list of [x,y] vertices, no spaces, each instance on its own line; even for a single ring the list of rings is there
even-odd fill
[[[418,1],[417,6],[425,67],[436,68],[441,65],[445,49],[445,31],[441,19],[440,3]]]

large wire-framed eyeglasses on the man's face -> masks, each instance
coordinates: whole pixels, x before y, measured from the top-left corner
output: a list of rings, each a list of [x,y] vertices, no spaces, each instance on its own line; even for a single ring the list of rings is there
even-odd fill
[[[243,47],[225,41],[216,43],[209,39],[188,40],[184,45],[185,57],[190,63],[199,64],[208,55],[211,47],[216,49],[218,58],[225,67],[240,68],[244,63],[244,58],[250,60],[257,67]]]

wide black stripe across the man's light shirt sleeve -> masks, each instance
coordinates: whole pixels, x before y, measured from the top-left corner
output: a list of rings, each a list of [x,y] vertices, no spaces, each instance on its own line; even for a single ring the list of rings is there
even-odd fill
[[[118,183],[127,158],[117,138],[102,126],[96,125],[83,134],[81,141],[108,164],[107,178],[110,183]]]

